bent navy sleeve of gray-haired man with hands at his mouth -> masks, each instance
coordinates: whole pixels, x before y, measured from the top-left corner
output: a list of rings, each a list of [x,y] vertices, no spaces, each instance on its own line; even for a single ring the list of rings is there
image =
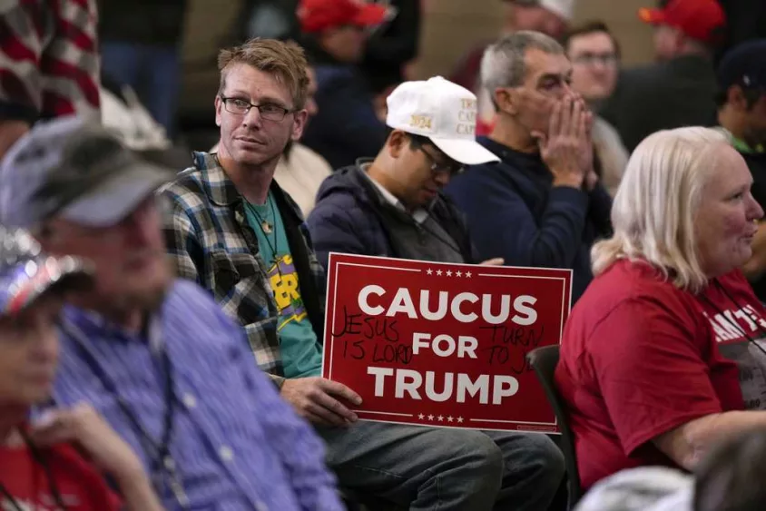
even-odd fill
[[[498,175],[476,167],[447,189],[467,214],[481,259],[502,257],[511,266],[571,268],[583,243],[588,195],[555,186],[542,217],[535,221],[521,196]]]

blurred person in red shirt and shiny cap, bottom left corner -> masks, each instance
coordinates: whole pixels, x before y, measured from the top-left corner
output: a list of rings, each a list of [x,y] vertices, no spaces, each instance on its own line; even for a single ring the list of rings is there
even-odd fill
[[[92,283],[73,258],[40,254],[25,231],[0,228],[0,508],[162,509],[138,457],[88,405],[29,415],[50,398],[64,293]]]

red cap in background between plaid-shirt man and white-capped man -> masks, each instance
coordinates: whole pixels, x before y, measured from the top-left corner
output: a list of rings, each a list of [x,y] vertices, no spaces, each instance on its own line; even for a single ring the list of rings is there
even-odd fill
[[[380,25],[386,20],[385,5],[362,0],[300,0],[298,19],[303,32],[321,32],[341,25]]]

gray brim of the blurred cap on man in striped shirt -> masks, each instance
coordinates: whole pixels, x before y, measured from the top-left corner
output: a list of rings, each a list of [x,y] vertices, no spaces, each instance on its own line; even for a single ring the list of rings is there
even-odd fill
[[[74,201],[61,215],[81,225],[109,227],[131,214],[141,202],[168,182],[165,169],[143,163],[123,169],[93,192]]]

